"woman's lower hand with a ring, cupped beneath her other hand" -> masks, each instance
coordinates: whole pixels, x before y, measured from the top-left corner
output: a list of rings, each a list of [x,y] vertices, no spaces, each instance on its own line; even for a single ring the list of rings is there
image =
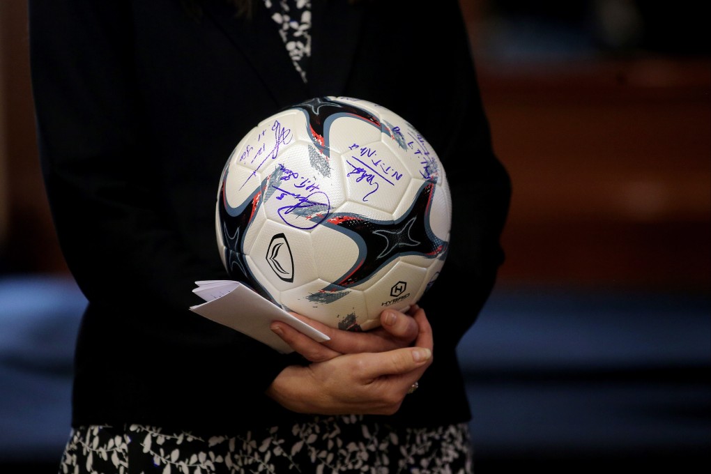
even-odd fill
[[[299,413],[395,413],[408,389],[432,363],[432,328],[422,309],[417,308],[412,318],[419,328],[415,347],[335,355],[305,367],[291,365],[277,375],[267,395]]]

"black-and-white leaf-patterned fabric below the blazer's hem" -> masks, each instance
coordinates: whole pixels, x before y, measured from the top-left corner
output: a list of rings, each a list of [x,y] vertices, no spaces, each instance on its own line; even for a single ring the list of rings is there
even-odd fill
[[[469,426],[392,429],[328,416],[239,435],[204,436],[142,425],[72,431],[62,474],[468,474]]]

